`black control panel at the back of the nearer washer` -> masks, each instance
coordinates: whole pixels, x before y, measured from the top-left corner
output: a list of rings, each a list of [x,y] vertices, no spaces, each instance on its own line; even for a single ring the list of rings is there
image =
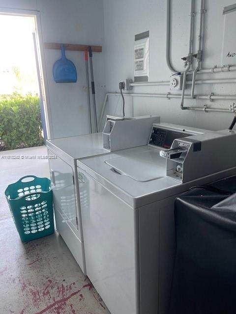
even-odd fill
[[[169,149],[171,148],[174,139],[190,135],[192,134],[152,127],[148,144]]]

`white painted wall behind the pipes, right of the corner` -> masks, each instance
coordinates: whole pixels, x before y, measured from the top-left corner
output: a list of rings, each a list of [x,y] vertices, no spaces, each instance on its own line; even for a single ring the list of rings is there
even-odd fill
[[[181,57],[188,53],[190,1],[172,1],[172,60],[178,70],[183,70]],[[220,66],[223,38],[223,6],[234,0],[206,0],[204,61],[203,68]],[[199,13],[200,0],[196,0]],[[198,30],[199,14],[196,18]],[[166,65],[166,0],[104,0],[105,60],[107,91],[118,91],[118,82],[123,78],[133,78],[134,35],[150,31],[150,77],[149,81],[168,80],[170,71]],[[197,39],[197,34],[195,34]],[[195,41],[197,43],[197,41]],[[196,50],[195,50],[196,51]],[[236,77],[236,73],[198,76],[197,78]],[[133,92],[167,93],[168,86],[134,87]],[[189,93],[189,87],[186,93]],[[196,94],[236,94],[235,84],[197,85]],[[177,92],[179,93],[179,92]],[[228,108],[230,101],[185,100],[185,105],[209,105]],[[120,113],[121,99],[109,96],[107,113]],[[204,129],[226,129],[233,119],[229,113],[204,113],[180,110],[178,99],[126,98],[126,114],[159,114],[162,121],[184,124]]]

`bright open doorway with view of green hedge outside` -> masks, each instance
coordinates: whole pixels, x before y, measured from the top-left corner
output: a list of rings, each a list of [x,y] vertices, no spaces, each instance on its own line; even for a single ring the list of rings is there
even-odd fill
[[[34,17],[0,14],[0,151],[47,138],[35,32]]]

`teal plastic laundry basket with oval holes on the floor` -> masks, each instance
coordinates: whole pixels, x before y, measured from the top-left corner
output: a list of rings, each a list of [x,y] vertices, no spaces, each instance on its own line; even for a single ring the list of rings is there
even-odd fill
[[[25,176],[8,185],[5,196],[23,242],[54,233],[53,197],[48,178]]]

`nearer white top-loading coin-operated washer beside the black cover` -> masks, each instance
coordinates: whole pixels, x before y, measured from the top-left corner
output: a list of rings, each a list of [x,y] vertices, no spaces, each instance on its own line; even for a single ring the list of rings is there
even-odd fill
[[[87,275],[111,314],[168,313],[174,201],[234,175],[235,142],[234,131],[154,124],[148,145],[77,160]]]

